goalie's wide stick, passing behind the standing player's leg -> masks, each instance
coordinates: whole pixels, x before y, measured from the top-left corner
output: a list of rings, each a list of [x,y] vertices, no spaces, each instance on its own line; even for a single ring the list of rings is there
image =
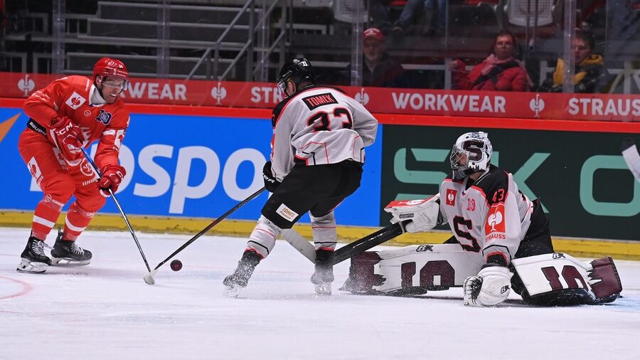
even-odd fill
[[[375,233],[366,235],[364,238],[344,245],[342,248],[339,248],[334,252],[334,265],[341,263],[344,260],[350,259],[354,255],[363,253],[364,251],[369,250],[374,246],[385,243],[386,241],[391,240],[398,235],[402,235],[402,233],[404,232],[402,230],[402,227],[409,221],[410,220],[402,221],[401,223],[395,223],[393,225],[387,226],[386,228],[381,228]],[[305,258],[309,259],[311,263],[316,262],[316,250],[314,248],[314,245],[311,245],[311,243],[309,243],[309,241],[302,237],[302,235],[300,235],[297,231],[293,229],[284,230],[282,231],[282,238],[284,238],[284,240],[287,240],[289,244],[291,244],[294,248],[296,248],[296,250],[302,253]]]

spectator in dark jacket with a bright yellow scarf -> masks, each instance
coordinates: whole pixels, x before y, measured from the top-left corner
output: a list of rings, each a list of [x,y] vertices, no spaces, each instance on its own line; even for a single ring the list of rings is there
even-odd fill
[[[611,81],[609,71],[604,68],[602,55],[594,54],[595,40],[591,33],[576,31],[572,44],[575,61],[575,75],[573,76],[574,92],[608,92]],[[565,82],[565,62],[558,58],[553,76],[544,81],[538,91],[562,92]]]

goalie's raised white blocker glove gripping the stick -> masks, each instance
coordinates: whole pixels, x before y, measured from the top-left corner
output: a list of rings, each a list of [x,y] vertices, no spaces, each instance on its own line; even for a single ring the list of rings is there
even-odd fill
[[[411,220],[405,225],[404,231],[421,233],[442,222],[439,198],[440,194],[436,194],[423,200],[391,201],[385,211],[393,216],[391,223]]]

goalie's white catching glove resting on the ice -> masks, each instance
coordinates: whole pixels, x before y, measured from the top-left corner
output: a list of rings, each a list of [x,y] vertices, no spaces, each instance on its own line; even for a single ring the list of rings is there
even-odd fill
[[[509,296],[511,272],[504,266],[488,266],[464,280],[464,305],[494,306]]]

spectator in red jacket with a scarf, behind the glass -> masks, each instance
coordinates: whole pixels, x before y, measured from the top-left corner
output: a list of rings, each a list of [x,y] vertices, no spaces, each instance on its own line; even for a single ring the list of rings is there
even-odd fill
[[[494,53],[470,72],[462,60],[449,65],[452,70],[453,89],[486,91],[529,91],[533,82],[524,64],[513,58],[516,37],[509,31],[501,31],[494,42]]]

